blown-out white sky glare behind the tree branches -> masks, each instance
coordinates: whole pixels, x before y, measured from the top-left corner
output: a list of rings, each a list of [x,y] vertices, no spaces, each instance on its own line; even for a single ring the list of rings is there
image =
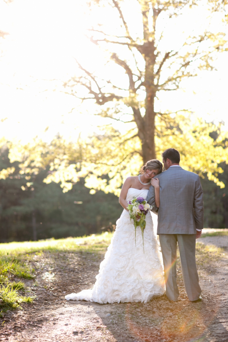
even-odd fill
[[[135,11],[137,8],[138,1],[123,3],[133,38],[142,39],[142,14]],[[202,11],[205,11],[205,1],[194,10],[186,9],[186,13],[173,21],[168,22],[166,14],[160,17],[158,28],[160,33],[165,30],[166,49],[178,48],[188,35],[200,28],[203,30],[207,19],[202,20]],[[214,26],[218,25],[218,15],[212,21]],[[0,38],[0,120],[8,118],[0,122],[1,135],[24,142],[38,135],[50,141],[59,132],[67,139],[76,140],[80,132],[84,136],[92,134],[97,125],[103,124],[102,118],[93,115],[99,110],[94,100],[81,105],[75,96],[64,93],[63,83],[80,75],[76,58],[91,73],[128,89],[128,76],[121,67],[106,64],[110,53],[102,52],[86,37],[88,27],[97,23],[104,23],[110,35],[123,35],[117,10],[105,6],[102,10],[93,8],[90,13],[84,0],[17,0],[8,5],[0,3],[0,22],[0,29],[9,32],[4,39]],[[97,33],[94,38],[102,37]],[[159,44],[161,50],[164,44]],[[115,44],[115,49],[123,60],[132,58],[126,47]],[[202,72],[197,79],[185,81],[185,93],[160,94],[156,109],[190,108],[209,121],[218,118],[227,122],[226,60],[227,53],[224,53],[216,64],[218,71]],[[138,67],[143,70],[143,58]],[[111,87],[106,90],[111,91]],[[119,90],[119,94],[128,96],[128,91]],[[80,95],[83,97],[86,92],[81,89]],[[145,94],[139,90],[138,96],[143,101]]]

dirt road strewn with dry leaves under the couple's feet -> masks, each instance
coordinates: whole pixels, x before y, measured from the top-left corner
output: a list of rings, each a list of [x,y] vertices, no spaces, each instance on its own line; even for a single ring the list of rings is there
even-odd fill
[[[199,266],[203,296],[200,303],[188,301],[179,263],[177,303],[170,303],[165,296],[147,304],[68,302],[66,293],[92,287],[103,256],[72,252],[34,254],[36,280],[27,280],[26,285],[27,294],[36,295],[36,299],[24,304],[24,310],[4,315],[0,340],[228,341],[228,236],[204,237],[197,243],[222,248],[221,257],[213,265]]]

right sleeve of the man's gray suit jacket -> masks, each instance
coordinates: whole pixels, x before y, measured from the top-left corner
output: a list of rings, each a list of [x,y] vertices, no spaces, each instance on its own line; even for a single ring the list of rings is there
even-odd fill
[[[196,228],[197,229],[203,229],[203,189],[200,183],[200,177],[198,176],[197,182],[196,182],[196,188],[195,188],[195,194],[194,194],[194,214],[195,214],[195,222],[196,222]]]

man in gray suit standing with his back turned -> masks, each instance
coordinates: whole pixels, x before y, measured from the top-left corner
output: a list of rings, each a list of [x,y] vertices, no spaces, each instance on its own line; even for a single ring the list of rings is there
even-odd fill
[[[179,166],[180,154],[174,148],[162,153],[165,172],[157,175],[160,185],[160,207],[155,205],[151,185],[146,200],[158,211],[158,231],[164,263],[166,297],[177,301],[177,243],[185,289],[191,302],[201,301],[196,268],[196,238],[203,228],[203,190],[196,173]],[[152,184],[152,183],[151,183]]]

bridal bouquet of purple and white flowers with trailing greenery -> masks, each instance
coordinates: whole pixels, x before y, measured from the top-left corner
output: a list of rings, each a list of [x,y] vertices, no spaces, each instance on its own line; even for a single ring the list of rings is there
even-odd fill
[[[142,237],[144,234],[144,229],[146,228],[146,214],[148,210],[151,210],[153,206],[150,206],[149,203],[143,197],[133,197],[132,201],[129,201],[128,210],[130,214],[130,218],[134,221],[135,226],[135,246],[136,246],[136,228],[140,227],[142,232]],[[136,217],[138,216],[138,217]],[[143,240],[143,252],[144,252],[144,240]]]

